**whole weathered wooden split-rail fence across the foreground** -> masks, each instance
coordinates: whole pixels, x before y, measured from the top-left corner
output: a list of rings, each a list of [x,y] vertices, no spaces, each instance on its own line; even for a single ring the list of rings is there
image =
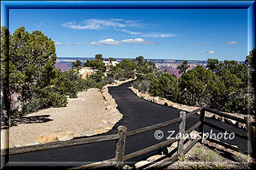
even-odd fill
[[[198,113],[200,111],[200,120],[195,123],[192,127],[190,127],[187,131],[185,131],[185,124],[186,119],[191,117],[191,115],[194,115],[195,113]],[[219,115],[220,117],[229,118],[231,120],[236,120],[237,122],[246,124],[248,135],[240,134],[239,132],[233,132],[228,129],[224,129],[223,127],[219,127],[217,125],[211,124],[209,122],[205,121],[205,111],[208,111],[210,113]],[[143,132],[148,132],[152,130],[159,129],[161,127],[166,127],[168,125],[179,123],[179,133],[180,138],[171,138],[167,139],[166,141],[162,141],[161,143],[157,143],[156,145],[149,146],[148,148],[143,148],[142,150],[138,150],[133,153],[129,153],[128,155],[125,155],[125,141],[126,137],[128,136],[134,136],[136,134],[141,134]],[[31,146],[22,146],[17,148],[8,148],[1,150],[1,156],[2,155],[12,155],[12,154],[19,154],[19,153],[27,153],[27,152],[36,152],[40,150],[51,150],[54,148],[62,148],[67,146],[76,146],[76,145],[84,145],[88,143],[97,143],[102,141],[113,141],[116,140],[116,151],[115,151],[115,158],[104,160],[101,162],[95,162],[93,164],[86,164],[84,166],[79,167],[73,167],[72,169],[93,169],[93,168],[100,168],[100,167],[116,167],[119,169],[122,169],[124,166],[124,162],[126,160],[132,159],[134,157],[138,157],[140,155],[143,155],[148,152],[152,152],[154,150],[158,150],[160,148],[164,148],[165,146],[169,146],[175,141],[178,141],[177,146],[177,152],[173,153],[172,156],[164,159],[164,161],[156,162],[152,168],[159,168],[168,166],[170,162],[175,162],[179,159],[179,157],[182,157],[182,155],[186,154],[197,142],[202,143],[203,137],[204,137],[204,127],[205,125],[212,127],[214,129],[218,129],[219,131],[228,132],[228,133],[234,133],[235,136],[248,140],[248,150],[242,150],[241,148],[237,148],[232,145],[228,145],[227,143],[223,143],[219,141],[218,139],[214,138],[207,138],[206,140],[209,140],[213,143],[216,143],[221,146],[225,146],[225,148],[229,148],[231,150],[234,150],[236,152],[242,152],[242,153],[252,153],[254,151],[254,146],[252,145],[253,141],[255,141],[255,134],[253,134],[253,128],[255,128],[255,120],[252,120],[252,117],[250,115],[245,115],[243,118],[234,117],[232,115],[228,115],[226,113],[221,113],[220,111],[215,111],[210,108],[206,108],[204,103],[200,104],[200,108],[197,110],[191,111],[186,114],[185,111],[180,111],[180,117],[175,118],[172,120],[168,120],[166,122],[156,124],[156,125],[150,125],[148,127],[143,127],[141,129],[136,129],[134,131],[128,131],[127,128],[124,126],[118,127],[118,134],[111,134],[106,136],[97,136],[97,137],[91,137],[91,138],[80,138],[80,139],[72,139],[70,141],[58,141],[54,143],[46,143],[46,144],[40,144],[40,145],[31,145]],[[192,139],[188,145],[184,146],[184,136],[186,134],[189,134],[190,132],[194,131],[198,127],[198,132],[200,134],[201,138],[195,138]],[[182,138],[183,136],[183,138]]]

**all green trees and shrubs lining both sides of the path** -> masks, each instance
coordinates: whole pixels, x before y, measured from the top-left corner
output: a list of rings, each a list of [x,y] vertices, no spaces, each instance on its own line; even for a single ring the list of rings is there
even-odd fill
[[[206,68],[189,69],[188,60],[184,60],[177,67],[179,73],[183,73],[179,78],[163,73],[142,56],[107,67],[102,54],[96,54],[93,60],[86,60],[84,64],[76,60],[71,64],[72,69],[60,71],[54,66],[55,50],[54,41],[41,31],[29,33],[25,27],[19,27],[10,34],[6,27],[1,27],[1,115],[6,125],[9,115],[63,107],[67,96],[77,97],[79,90],[134,78],[135,73],[143,75],[132,86],[152,96],[189,106],[204,102],[220,111],[246,113],[248,106],[255,110],[255,49],[244,64],[208,59]],[[109,60],[116,59],[109,57]],[[79,74],[82,66],[97,72],[83,79]]]

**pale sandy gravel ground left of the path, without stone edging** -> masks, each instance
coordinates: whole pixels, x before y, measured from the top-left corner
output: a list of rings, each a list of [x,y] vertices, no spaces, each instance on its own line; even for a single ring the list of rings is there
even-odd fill
[[[6,148],[4,141],[8,143],[8,139],[9,147],[13,147],[19,141],[34,139],[42,134],[98,129],[106,125],[102,120],[111,117],[105,107],[100,90],[88,89],[87,92],[79,92],[76,99],[68,99],[65,108],[48,108],[25,117],[13,118],[10,129],[1,130],[1,148]]]

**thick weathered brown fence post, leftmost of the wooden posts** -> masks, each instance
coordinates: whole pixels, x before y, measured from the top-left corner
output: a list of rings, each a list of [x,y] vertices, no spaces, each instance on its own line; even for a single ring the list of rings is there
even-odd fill
[[[118,129],[118,135],[120,136],[120,138],[116,142],[115,159],[117,161],[116,168],[121,169],[124,164],[124,149],[125,149],[127,127],[120,125],[118,126],[117,129]]]

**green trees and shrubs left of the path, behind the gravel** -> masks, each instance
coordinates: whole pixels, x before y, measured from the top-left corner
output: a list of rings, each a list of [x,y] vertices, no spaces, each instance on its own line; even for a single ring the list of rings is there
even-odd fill
[[[1,116],[5,125],[10,115],[63,107],[67,104],[66,96],[77,97],[79,90],[108,83],[98,82],[97,76],[101,78],[103,73],[81,78],[80,60],[72,62],[72,69],[60,71],[54,66],[55,50],[54,41],[41,31],[29,33],[25,27],[19,27],[10,34],[6,27],[1,27]],[[104,63],[102,67],[105,68]]]

